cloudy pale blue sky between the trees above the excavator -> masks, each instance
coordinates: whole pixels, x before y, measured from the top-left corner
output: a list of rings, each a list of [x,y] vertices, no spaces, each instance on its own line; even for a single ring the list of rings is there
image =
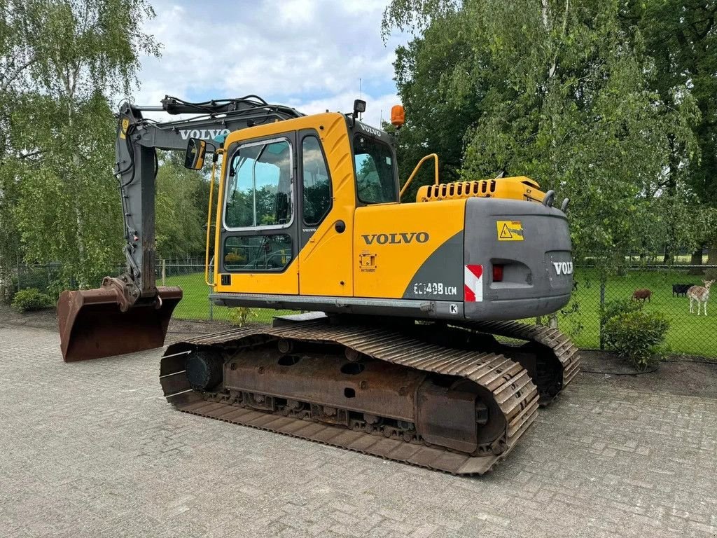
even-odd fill
[[[399,103],[394,50],[408,40],[398,32],[381,39],[387,1],[151,0],[157,16],[143,31],[161,44],[161,57],[142,58],[133,100],[255,94],[317,113],[351,112],[361,95],[364,121],[379,126]]]

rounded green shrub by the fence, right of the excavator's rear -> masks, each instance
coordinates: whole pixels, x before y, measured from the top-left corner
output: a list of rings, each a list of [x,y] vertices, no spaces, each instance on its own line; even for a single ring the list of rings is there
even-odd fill
[[[665,341],[669,328],[662,313],[637,309],[620,311],[608,318],[603,334],[608,347],[644,370],[656,361],[657,346]]]

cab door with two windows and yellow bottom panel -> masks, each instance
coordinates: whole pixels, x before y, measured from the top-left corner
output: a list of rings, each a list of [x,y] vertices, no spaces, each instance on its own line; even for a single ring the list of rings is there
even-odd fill
[[[227,148],[218,292],[299,292],[296,133]]]

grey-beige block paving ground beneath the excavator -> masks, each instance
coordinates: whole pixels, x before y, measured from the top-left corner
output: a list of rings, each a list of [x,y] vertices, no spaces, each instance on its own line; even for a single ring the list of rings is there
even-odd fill
[[[0,324],[0,537],[714,537],[717,400],[580,374],[462,478],[171,410],[158,351]]]

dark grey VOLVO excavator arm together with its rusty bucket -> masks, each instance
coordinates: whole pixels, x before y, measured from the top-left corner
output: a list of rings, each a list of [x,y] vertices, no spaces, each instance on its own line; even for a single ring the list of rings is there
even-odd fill
[[[204,103],[167,96],[161,103],[144,107],[123,103],[117,115],[115,176],[122,202],[125,273],[105,277],[98,289],[65,291],[60,296],[57,316],[66,362],[163,345],[182,294],[180,288],[156,286],[156,150],[185,151],[190,140],[199,139],[212,153],[220,147],[214,140],[232,131],[303,115],[256,95]],[[193,117],[159,123],[144,118],[143,111]]]

